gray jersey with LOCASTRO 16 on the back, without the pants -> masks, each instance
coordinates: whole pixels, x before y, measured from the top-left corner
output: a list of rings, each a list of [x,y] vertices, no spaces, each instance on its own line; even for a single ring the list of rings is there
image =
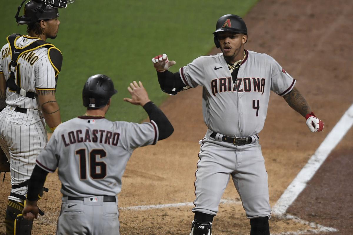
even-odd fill
[[[152,120],[138,124],[77,117],[55,129],[36,164],[48,172],[58,168],[64,196],[115,196],[132,151],[157,140]]]

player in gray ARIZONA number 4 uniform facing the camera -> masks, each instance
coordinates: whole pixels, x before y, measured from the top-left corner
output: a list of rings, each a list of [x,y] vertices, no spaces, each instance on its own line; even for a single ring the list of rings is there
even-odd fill
[[[279,63],[267,54],[244,49],[247,28],[242,18],[222,16],[213,34],[222,53],[198,57],[177,73],[168,71],[175,61],[169,61],[166,54],[152,58],[164,92],[177,94],[203,87],[208,130],[200,141],[190,234],[211,234],[213,217],[231,177],[250,219],[250,234],[269,235],[271,208],[258,133],[264,125],[270,91],[305,117],[312,132],[322,131],[324,124]]]

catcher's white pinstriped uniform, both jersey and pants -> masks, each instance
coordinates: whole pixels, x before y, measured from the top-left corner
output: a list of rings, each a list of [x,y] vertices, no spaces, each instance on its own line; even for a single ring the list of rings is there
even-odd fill
[[[37,40],[40,38],[18,36],[14,46],[16,49],[22,49]],[[15,71],[15,81],[20,88],[35,93],[36,89],[55,90],[55,76],[59,71],[50,60],[51,49],[41,47],[20,55]],[[7,43],[0,51],[0,72],[6,80],[10,76],[10,62],[11,50]],[[30,178],[36,157],[47,143],[46,124],[38,99],[24,97],[7,88],[6,104],[0,114],[0,145],[10,162],[11,184],[18,185]],[[16,111],[16,107],[25,109],[25,112]],[[12,188],[11,192],[25,195],[27,186]],[[21,201],[13,196],[9,199]]]

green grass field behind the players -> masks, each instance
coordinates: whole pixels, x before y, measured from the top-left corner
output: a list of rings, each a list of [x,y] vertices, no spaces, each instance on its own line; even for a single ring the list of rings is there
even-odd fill
[[[60,9],[58,37],[48,39],[64,55],[56,97],[62,120],[82,115],[82,88],[93,74],[113,79],[118,93],[112,98],[107,118],[140,122],[147,117],[142,107],[126,103],[127,86],[142,81],[157,105],[168,95],[160,90],[151,58],[168,55],[177,72],[214,46],[212,32],[224,14],[244,16],[257,0],[248,1],[119,1],[77,0]],[[26,26],[14,19],[20,0],[1,0],[0,44],[13,32],[25,33]],[[23,10],[20,12],[22,15]],[[4,24],[6,22],[6,24]]]

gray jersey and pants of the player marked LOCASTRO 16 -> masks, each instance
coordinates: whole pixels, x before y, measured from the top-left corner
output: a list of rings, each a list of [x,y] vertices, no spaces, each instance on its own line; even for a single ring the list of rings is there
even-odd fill
[[[58,168],[63,198],[56,234],[119,235],[117,200],[104,202],[102,195],[116,198],[132,151],[157,140],[153,120],[137,124],[83,116],[60,124],[37,158],[48,172]]]

